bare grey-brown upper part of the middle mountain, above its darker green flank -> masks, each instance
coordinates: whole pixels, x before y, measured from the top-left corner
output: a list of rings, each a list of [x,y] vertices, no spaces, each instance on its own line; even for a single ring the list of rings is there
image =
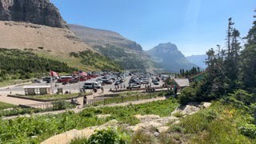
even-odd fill
[[[118,34],[110,30],[99,30],[86,26],[68,25],[70,30],[74,32],[83,42],[90,46],[105,46],[110,44],[116,47],[122,47],[130,50],[142,51],[142,46],[137,42],[124,38],[121,34]]]

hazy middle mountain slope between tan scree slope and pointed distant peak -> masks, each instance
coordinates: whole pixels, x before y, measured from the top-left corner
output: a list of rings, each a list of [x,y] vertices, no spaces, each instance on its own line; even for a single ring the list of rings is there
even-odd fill
[[[83,42],[107,58],[113,59],[125,70],[158,70],[150,56],[142,50],[142,46],[116,32],[78,25],[69,27]]]

